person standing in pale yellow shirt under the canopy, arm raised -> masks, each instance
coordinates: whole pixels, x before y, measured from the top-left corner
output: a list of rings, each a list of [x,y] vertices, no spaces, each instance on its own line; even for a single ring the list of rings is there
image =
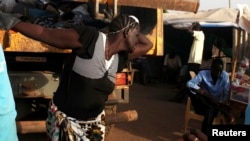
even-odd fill
[[[197,74],[202,63],[205,35],[198,22],[193,23],[188,31],[194,37],[188,58],[189,70]]]

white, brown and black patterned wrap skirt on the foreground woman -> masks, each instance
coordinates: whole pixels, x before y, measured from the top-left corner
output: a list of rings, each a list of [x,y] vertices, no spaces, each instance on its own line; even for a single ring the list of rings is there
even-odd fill
[[[49,141],[104,141],[105,111],[95,119],[80,121],[57,109],[54,104],[48,109],[46,128]]]

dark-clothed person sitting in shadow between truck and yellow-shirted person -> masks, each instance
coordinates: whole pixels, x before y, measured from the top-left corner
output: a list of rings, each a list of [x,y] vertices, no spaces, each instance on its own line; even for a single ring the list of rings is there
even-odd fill
[[[163,73],[167,82],[177,83],[182,67],[181,58],[178,54],[172,51],[165,55],[163,62]]]

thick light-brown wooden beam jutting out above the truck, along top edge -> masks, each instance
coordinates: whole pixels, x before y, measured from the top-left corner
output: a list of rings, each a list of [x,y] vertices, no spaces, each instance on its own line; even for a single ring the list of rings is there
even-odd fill
[[[95,0],[72,0],[76,2],[93,2]],[[113,0],[99,0],[100,3]],[[135,6],[145,8],[159,8],[167,10],[179,10],[197,12],[199,0],[117,0],[118,5]]]

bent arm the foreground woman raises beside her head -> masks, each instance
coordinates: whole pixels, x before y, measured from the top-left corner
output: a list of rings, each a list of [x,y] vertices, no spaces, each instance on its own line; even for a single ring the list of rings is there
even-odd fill
[[[139,42],[136,44],[134,52],[128,55],[128,59],[132,60],[142,56],[146,54],[152,47],[152,42],[146,37],[146,35],[140,33]]]

